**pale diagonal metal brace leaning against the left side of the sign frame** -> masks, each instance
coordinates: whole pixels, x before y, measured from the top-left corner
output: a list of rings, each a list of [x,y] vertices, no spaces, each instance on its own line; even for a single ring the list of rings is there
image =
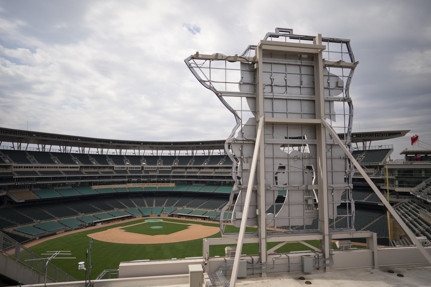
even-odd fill
[[[256,173],[256,166],[257,166],[257,161],[258,161],[259,145],[260,145],[260,138],[261,138],[260,135],[262,134],[262,130],[263,130],[263,121],[264,121],[263,117],[261,117],[259,119],[259,126],[257,128],[256,144],[254,146],[253,161],[251,162],[251,169],[250,169],[250,178],[248,180],[248,185],[247,185],[247,193],[245,196],[243,217],[241,219],[241,226],[240,226],[240,233],[238,234],[237,251],[235,253],[234,266],[232,267],[231,283],[229,285],[231,287],[235,287],[235,284],[237,283],[238,267],[240,264],[241,251],[242,251],[242,246],[243,246],[243,241],[244,241],[245,225],[247,223],[248,209],[250,207],[251,191],[253,189],[254,176]]]

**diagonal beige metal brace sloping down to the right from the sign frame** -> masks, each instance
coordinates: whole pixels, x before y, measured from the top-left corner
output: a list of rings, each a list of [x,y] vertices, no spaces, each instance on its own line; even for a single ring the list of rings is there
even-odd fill
[[[343,145],[340,138],[338,137],[337,133],[332,129],[332,127],[325,121],[324,118],[322,118],[322,124],[326,127],[326,129],[331,133],[332,138],[340,145],[340,147],[344,150],[346,155],[350,158],[350,161],[353,163],[353,165],[358,169],[358,171],[362,174],[365,181],[370,185],[370,187],[373,189],[375,194],[378,196],[378,198],[383,202],[384,206],[389,210],[389,213],[394,217],[394,219],[397,221],[397,223],[403,228],[404,232],[409,236],[410,240],[418,247],[419,251],[422,253],[423,256],[425,256],[425,259],[431,264],[431,255],[428,254],[428,252],[425,250],[425,248],[422,246],[422,244],[419,242],[419,240],[416,239],[416,236],[413,234],[413,232],[410,230],[410,228],[406,225],[406,223],[401,219],[401,217],[398,215],[398,213],[394,210],[394,208],[389,204],[389,202],[384,198],[383,194],[378,190],[377,186],[372,182],[370,177],[365,173],[365,171],[362,169],[361,165],[358,164],[356,159],[353,157],[353,155],[349,152],[349,150]]]

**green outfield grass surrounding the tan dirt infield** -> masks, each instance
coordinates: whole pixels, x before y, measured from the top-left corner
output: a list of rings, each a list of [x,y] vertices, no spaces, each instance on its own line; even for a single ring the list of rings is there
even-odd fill
[[[56,251],[56,250],[70,250],[72,257],[76,259],[56,259],[52,263],[69,273],[78,280],[84,280],[85,272],[83,270],[78,270],[78,262],[85,261],[85,252],[89,247],[90,238],[88,234],[104,231],[109,228],[127,226],[131,224],[136,224],[139,222],[144,222],[146,219],[138,219],[133,222],[121,222],[116,225],[102,226],[97,229],[85,230],[69,235],[64,235],[59,238],[53,238],[48,241],[37,244],[30,249],[37,254],[46,253],[46,251]],[[187,224],[200,224],[206,226],[218,227],[218,223],[212,222],[190,222],[180,219],[163,218],[163,222],[153,222],[155,225],[166,224],[167,222],[182,222]],[[149,224],[141,224],[142,226]],[[139,225],[136,225],[139,226]],[[148,225],[150,226],[150,225]],[[184,225],[185,226],[185,225]],[[164,228],[161,228],[164,229]],[[159,230],[159,229],[154,229]],[[239,228],[233,226],[228,227],[229,232],[237,232]],[[247,232],[256,232],[256,228],[247,227]],[[218,238],[220,237],[220,232],[209,236],[207,238]],[[318,246],[318,241],[307,241],[313,246]],[[277,242],[269,243],[268,249],[274,247]],[[333,248],[337,249],[334,246]],[[209,256],[225,256],[225,247],[228,245],[217,245],[210,247]],[[242,254],[253,255],[257,254],[258,245],[257,244],[244,244]],[[288,252],[288,251],[299,251],[299,250],[311,250],[311,248],[306,247],[303,244],[292,243],[286,244],[283,247],[276,250],[276,252]],[[139,259],[171,259],[171,258],[185,258],[202,256],[202,238],[190,241],[182,241],[175,243],[164,243],[164,244],[117,244],[109,243],[104,241],[93,240],[92,247],[92,263],[93,269],[91,271],[92,278],[96,278],[104,269],[116,269],[120,262],[139,260]]]

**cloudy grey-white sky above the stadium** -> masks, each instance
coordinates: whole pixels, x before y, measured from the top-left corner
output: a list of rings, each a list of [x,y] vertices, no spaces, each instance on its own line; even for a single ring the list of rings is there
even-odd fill
[[[431,1],[0,0],[0,127],[225,139],[234,117],[184,59],[240,54],[276,27],[351,39],[353,131],[431,144]]]

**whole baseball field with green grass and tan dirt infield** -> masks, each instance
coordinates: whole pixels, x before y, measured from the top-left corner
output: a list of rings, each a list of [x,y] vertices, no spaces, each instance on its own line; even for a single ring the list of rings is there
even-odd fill
[[[141,259],[172,259],[202,256],[202,238],[220,237],[219,224],[200,220],[173,219],[167,217],[139,218],[120,223],[95,226],[69,231],[54,238],[44,238],[26,244],[37,254],[46,251],[68,250],[76,259],[53,259],[51,262],[78,280],[84,280],[84,270],[78,270],[78,262],[85,261],[90,237],[93,238],[91,278],[96,278],[104,269],[116,269],[120,262]],[[154,221],[162,219],[162,221]],[[147,221],[146,221],[147,220]],[[238,232],[239,228],[227,226],[227,232]],[[247,232],[256,231],[247,227]],[[307,241],[317,246],[318,241]],[[278,242],[268,244],[268,249]],[[334,245],[334,244],[333,244]],[[209,256],[225,256],[228,245],[211,246]],[[336,247],[334,247],[336,249]],[[286,244],[276,250],[289,252],[311,250],[300,244]],[[257,254],[257,244],[244,244],[243,254]]]

